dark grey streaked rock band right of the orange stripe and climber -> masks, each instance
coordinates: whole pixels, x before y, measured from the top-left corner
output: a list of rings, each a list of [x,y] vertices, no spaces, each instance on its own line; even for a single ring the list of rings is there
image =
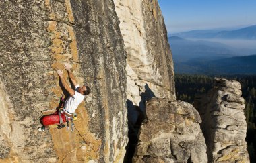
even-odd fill
[[[72,1],[90,131],[102,141],[100,162],[123,162],[127,144],[126,52],[113,1]]]

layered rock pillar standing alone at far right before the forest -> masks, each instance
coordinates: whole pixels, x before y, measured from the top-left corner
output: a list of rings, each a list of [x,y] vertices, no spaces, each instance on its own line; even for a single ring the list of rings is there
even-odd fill
[[[209,162],[249,162],[241,85],[215,78],[214,88],[195,100],[203,122]]]

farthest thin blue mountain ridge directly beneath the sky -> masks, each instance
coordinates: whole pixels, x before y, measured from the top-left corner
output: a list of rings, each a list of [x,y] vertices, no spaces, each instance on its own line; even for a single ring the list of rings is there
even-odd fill
[[[172,36],[182,38],[222,38],[222,39],[245,39],[256,40],[256,25],[251,25],[238,30],[193,30],[188,32],[174,33]]]

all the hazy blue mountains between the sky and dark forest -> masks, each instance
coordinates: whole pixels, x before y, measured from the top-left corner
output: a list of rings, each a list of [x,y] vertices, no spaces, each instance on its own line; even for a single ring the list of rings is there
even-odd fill
[[[256,74],[256,25],[181,32],[168,41],[177,73]]]

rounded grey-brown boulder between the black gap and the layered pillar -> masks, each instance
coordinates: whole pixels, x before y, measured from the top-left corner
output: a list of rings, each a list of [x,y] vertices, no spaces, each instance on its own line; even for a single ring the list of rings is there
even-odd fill
[[[207,162],[195,108],[184,101],[150,99],[133,162]]]

